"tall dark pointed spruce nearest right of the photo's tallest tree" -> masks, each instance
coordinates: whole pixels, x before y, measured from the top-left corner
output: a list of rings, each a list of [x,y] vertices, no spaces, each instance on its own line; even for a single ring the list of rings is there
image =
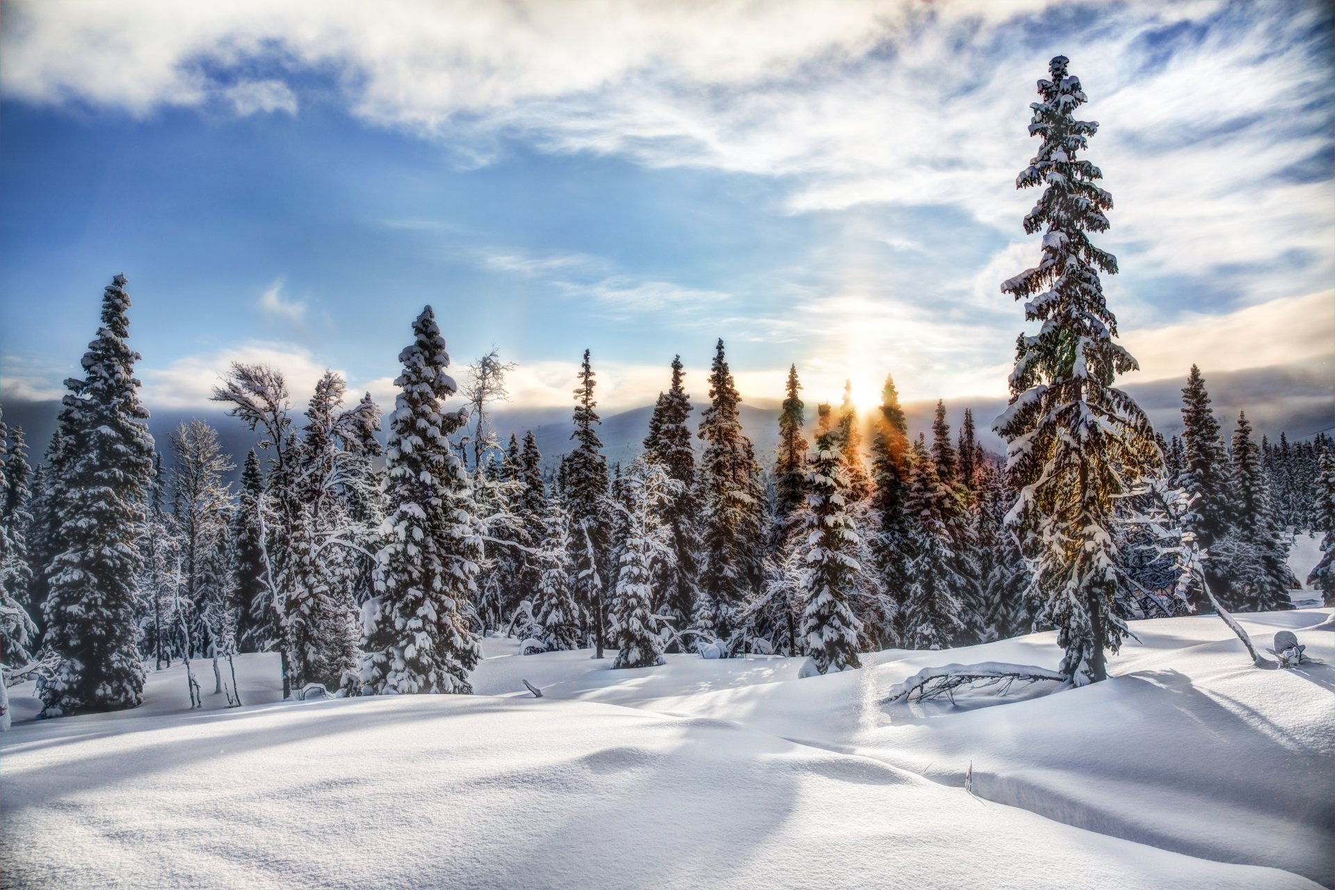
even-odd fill
[[[1207,554],[1204,576],[1211,592],[1226,607],[1234,608],[1227,554],[1212,552],[1231,527],[1234,492],[1228,454],[1210,407],[1206,380],[1195,364],[1181,391],[1181,419],[1185,427],[1181,434],[1183,471],[1173,482],[1192,498],[1185,530],[1196,535],[1196,543]],[[1203,591],[1192,588],[1188,599],[1196,611],[1210,610]]]

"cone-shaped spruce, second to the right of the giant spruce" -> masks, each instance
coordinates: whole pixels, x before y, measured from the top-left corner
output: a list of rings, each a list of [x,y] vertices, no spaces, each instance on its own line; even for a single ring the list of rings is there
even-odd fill
[[[1247,414],[1240,412],[1232,442],[1231,530],[1216,547],[1230,571],[1228,599],[1222,602],[1230,610],[1251,612],[1291,608],[1288,540],[1275,518],[1251,430]]]

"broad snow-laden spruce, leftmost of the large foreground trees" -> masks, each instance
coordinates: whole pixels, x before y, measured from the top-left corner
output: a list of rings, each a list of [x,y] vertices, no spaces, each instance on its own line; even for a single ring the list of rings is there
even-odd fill
[[[64,479],[43,644],[60,656],[41,689],[48,717],[135,707],[144,666],[135,646],[135,539],[154,467],[148,410],[139,400],[129,348],[129,294],[117,275],[101,298],[101,328],[83,358],[85,376],[65,380],[60,412]]]

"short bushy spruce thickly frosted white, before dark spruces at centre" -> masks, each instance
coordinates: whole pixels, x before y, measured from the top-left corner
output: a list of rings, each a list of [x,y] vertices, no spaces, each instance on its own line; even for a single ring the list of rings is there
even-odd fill
[[[622,474],[625,536],[613,587],[607,634],[617,648],[613,667],[650,667],[662,663],[663,624],[654,612],[651,580],[661,563],[676,559],[668,511],[684,487],[668,468],[642,455]]]

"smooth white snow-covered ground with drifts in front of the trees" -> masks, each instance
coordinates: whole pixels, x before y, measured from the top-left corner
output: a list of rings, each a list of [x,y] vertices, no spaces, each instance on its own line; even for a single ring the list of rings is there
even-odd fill
[[[1052,667],[1051,634],[797,679],[801,659],[610,670],[487,639],[474,697],[142,709],[0,737],[5,887],[1311,887],[1335,883],[1326,664],[1250,666],[1218,618],[1133,624],[1107,683],[995,707],[884,705],[922,666]],[[523,681],[543,690],[533,698]],[[972,762],[972,794],[964,775]]]

